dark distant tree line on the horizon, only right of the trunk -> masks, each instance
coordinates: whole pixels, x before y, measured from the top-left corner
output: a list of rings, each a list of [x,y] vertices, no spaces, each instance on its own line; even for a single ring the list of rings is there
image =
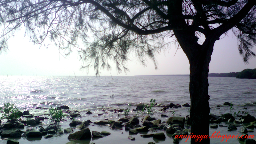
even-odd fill
[[[236,77],[236,78],[256,78],[256,68],[254,69],[244,69],[241,72],[232,72],[232,73],[211,73],[208,76],[212,77]]]

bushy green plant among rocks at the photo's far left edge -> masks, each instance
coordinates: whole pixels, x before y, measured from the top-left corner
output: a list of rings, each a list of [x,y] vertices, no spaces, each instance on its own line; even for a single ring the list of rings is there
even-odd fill
[[[18,108],[16,108],[14,106],[14,104],[10,104],[9,102],[5,103],[4,107],[0,108],[0,109],[3,109],[3,111],[4,111],[3,117],[1,117],[1,118],[5,118],[8,120],[14,120],[14,119],[17,119],[20,117],[18,114]]]

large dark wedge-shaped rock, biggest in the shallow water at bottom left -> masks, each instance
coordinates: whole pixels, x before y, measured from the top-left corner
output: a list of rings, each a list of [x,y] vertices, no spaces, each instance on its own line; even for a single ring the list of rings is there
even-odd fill
[[[92,134],[90,132],[90,129],[85,128],[81,131],[75,132],[75,133],[71,133],[68,136],[68,140],[72,139],[72,140],[87,140],[87,139],[91,139],[92,138]]]

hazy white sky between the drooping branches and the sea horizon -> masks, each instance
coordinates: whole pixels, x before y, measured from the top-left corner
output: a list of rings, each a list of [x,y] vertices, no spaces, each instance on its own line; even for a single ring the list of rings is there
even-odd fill
[[[224,36],[222,36],[224,37]],[[80,70],[82,61],[76,51],[67,58],[59,54],[58,48],[49,48],[34,45],[25,38],[21,32],[13,36],[9,41],[9,52],[0,54],[0,76],[94,76],[93,68]],[[169,50],[156,55],[158,69],[151,60],[147,61],[147,67],[143,67],[138,60],[131,56],[133,61],[128,61],[130,70],[127,74],[118,74],[115,66],[111,71],[101,70],[100,76],[134,76],[134,75],[172,75],[189,74],[189,62],[182,49],[178,49],[176,55],[175,45]],[[253,52],[256,52],[254,48]],[[63,54],[63,52],[61,52]],[[214,45],[212,60],[209,66],[210,73],[238,72],[246,68],[256,68],[256,59],[249,60],[246,65],[239,55],[236,37],[232,33],[217,41]]]

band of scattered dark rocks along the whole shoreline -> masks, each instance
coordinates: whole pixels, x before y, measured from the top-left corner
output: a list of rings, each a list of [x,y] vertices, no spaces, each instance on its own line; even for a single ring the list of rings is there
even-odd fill
[[[225,102],[224,105],[231,106],[230,103]],[[138,104],[136,109],[132,111],[140,111],[144,104]],[[155,107],[160,108],[159,111],[165,112],[167,109],[176,109],[181,107],[190,107],[189,104],[178,105],[170,103],[169,105],[156,105]],[[222,107],[218,105],[217,107]],[[143,138],[153,138],[156,140],[165,140],[166,136],[170,136],[173,139],[173,143],[179,143],[181,139],[174,138],[175,135],[189,135],[190,134],[190,117],[180,117],[172,116],[166,121],[156,119],[153,116],[124,116],[118,120],[109,120],[108,118],[92,122],[91,120],[80,121],[76,120],[77,117],[81,117],[81,114],[75,110],[70,111],[68,106],[60,107],[66,118],[73,119],[69,123],[69,128],[60,129],[55,125],[50,123],[49,116],[35,116],[31,115],[29,111],[19,111],[20,119],[18,120],[8,120],[2,124],[0,120],[0,136],[2,140],[7,140],[7,144],[19,144],[19,141],[13,140],[18,138],[39,138],[44,139],[52,138],[54,135],[68,134],[68,140],[90,140],[91,138],[102,138],[108,137],[112,132],[111,130],[122,130],[129,132],[127,139],[135,140],[133,137],[138,133],[145,133],[140,135]],[[47,109],[37,107],[36,109]],[[113,113],[123,113],[123,109],[113,109],[109,110]],[[91,115],[91,111],[87,111],[86,115]],[[100,114],[98,114],[100,116]],[[161,117],[166,117],[166,115],[161,114]],[[168,117],[168,116],[167,116]],[[209,115],[210,124],[209,127],[212,129],[217,129],[218,127],[227,127],[227,131],[236,131],[237,127],[241,127],[238,132],[242,135],[246,135],[248,132],[254,132],[253,129],[256,127],[256,119],[250,114],[230,114],[226,113],[224,115]],[[43,126],[42,122],[49,121],[48,126]],[[103,127],[109,127],[109,131],[94,131],[88,126],[100,125]],[[25,130],[26,129],[26,130]],[[36,130],[35,130],[36,129]],[[92,131],[93,130],[93,131]],[[76,132],[75,132],[76,131]],[[149,134],[147,132],[150,132]],[[131,134],[131,135],[130,135]],[[238,139],[238,142],[244,142],[245,144],[255,144],[255,140],[246,140],[246,138]],[[75,144],[79,141],[70,141],[67,144]],[[148,144],[154,144],[154,142],[148,142]],[[93,143],[91,143],[93,144]]]

